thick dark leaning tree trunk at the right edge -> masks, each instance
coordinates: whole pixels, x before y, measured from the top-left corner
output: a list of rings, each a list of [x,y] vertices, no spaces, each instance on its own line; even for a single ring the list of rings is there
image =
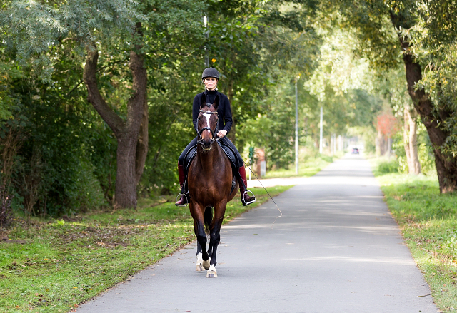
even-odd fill
[[[393,26],[404,26],[403,16],[398,16],[391,12],[391,21]],[[430,96],[421,88],[416,89],[416,83],[422,79],[421,65],[417,63],[413,56],[408,53],[409,43],[403,39],[401,34],[398,34],[398,39],[401,47],[405,52],[403,54],[403,62],[405,63],[406,82],[408,83],[408,93],[414,103],[414,108],[421,116],[423,125],[426,126],[428,136],[433,145],[433,153],[435,154],[436,173],[438,174],[438,182],[440,185],[440,193],[449,193],[457,190],[457,159],[452,155],[441,152],[441,146],[448,138],[448,132],[440,128],[451,112],[441,108],[434,114],[433,103]]]

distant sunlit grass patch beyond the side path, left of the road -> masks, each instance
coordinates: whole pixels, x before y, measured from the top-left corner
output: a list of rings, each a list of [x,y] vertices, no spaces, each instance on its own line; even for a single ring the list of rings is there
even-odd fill
[[[262,178],[289,178],[289,177],[309,177],[316,175],[328,164],[332,163],[333,160],[341,158],[343,154],[336,156],[318,155],[316,158],[306,158],[298,163],[298,175],[295,173],[295,164],[292,164],[289,168],[281,168],[278,170],[267,170],[266,175]]]

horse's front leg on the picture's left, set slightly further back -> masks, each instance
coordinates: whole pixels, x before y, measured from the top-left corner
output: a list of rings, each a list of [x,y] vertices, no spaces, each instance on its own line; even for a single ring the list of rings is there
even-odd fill
[[[206,251],[204,210],[202,210],[201,207],[193,201],[189,203],[189,209],[192,217],[194,218],[194,233],[197,238],[197,263],[195,269],[197,272],[203,272],[204,270],[208,270],[210,267],[209,254]]]

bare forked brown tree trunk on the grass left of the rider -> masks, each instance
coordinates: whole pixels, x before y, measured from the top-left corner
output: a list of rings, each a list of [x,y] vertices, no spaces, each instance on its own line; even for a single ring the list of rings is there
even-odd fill
[[[141,35],[141,24],[136,25]],[[141,46],[130,51],[129,68],[132,73],[131,97],[127,103],[127,118],[122,120],[107,104],[96,83],[96,68],[99,53],[96,47],[88,48],[84,66],[84,83],[92,103],[101,118],[113,130],[117,139],[117,173],[114,207],[136,207],[136,185],[143,173],[148,147],[146,85],[147,76],[143,56],[136,53]],[[140,132],[141,130],[141,132]]]

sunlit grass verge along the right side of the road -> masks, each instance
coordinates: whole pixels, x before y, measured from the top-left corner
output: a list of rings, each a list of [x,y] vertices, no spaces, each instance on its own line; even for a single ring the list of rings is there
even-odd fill
[[[436,177],[379,175],[386,202],[442,312],[457,311],[457,194]]]

